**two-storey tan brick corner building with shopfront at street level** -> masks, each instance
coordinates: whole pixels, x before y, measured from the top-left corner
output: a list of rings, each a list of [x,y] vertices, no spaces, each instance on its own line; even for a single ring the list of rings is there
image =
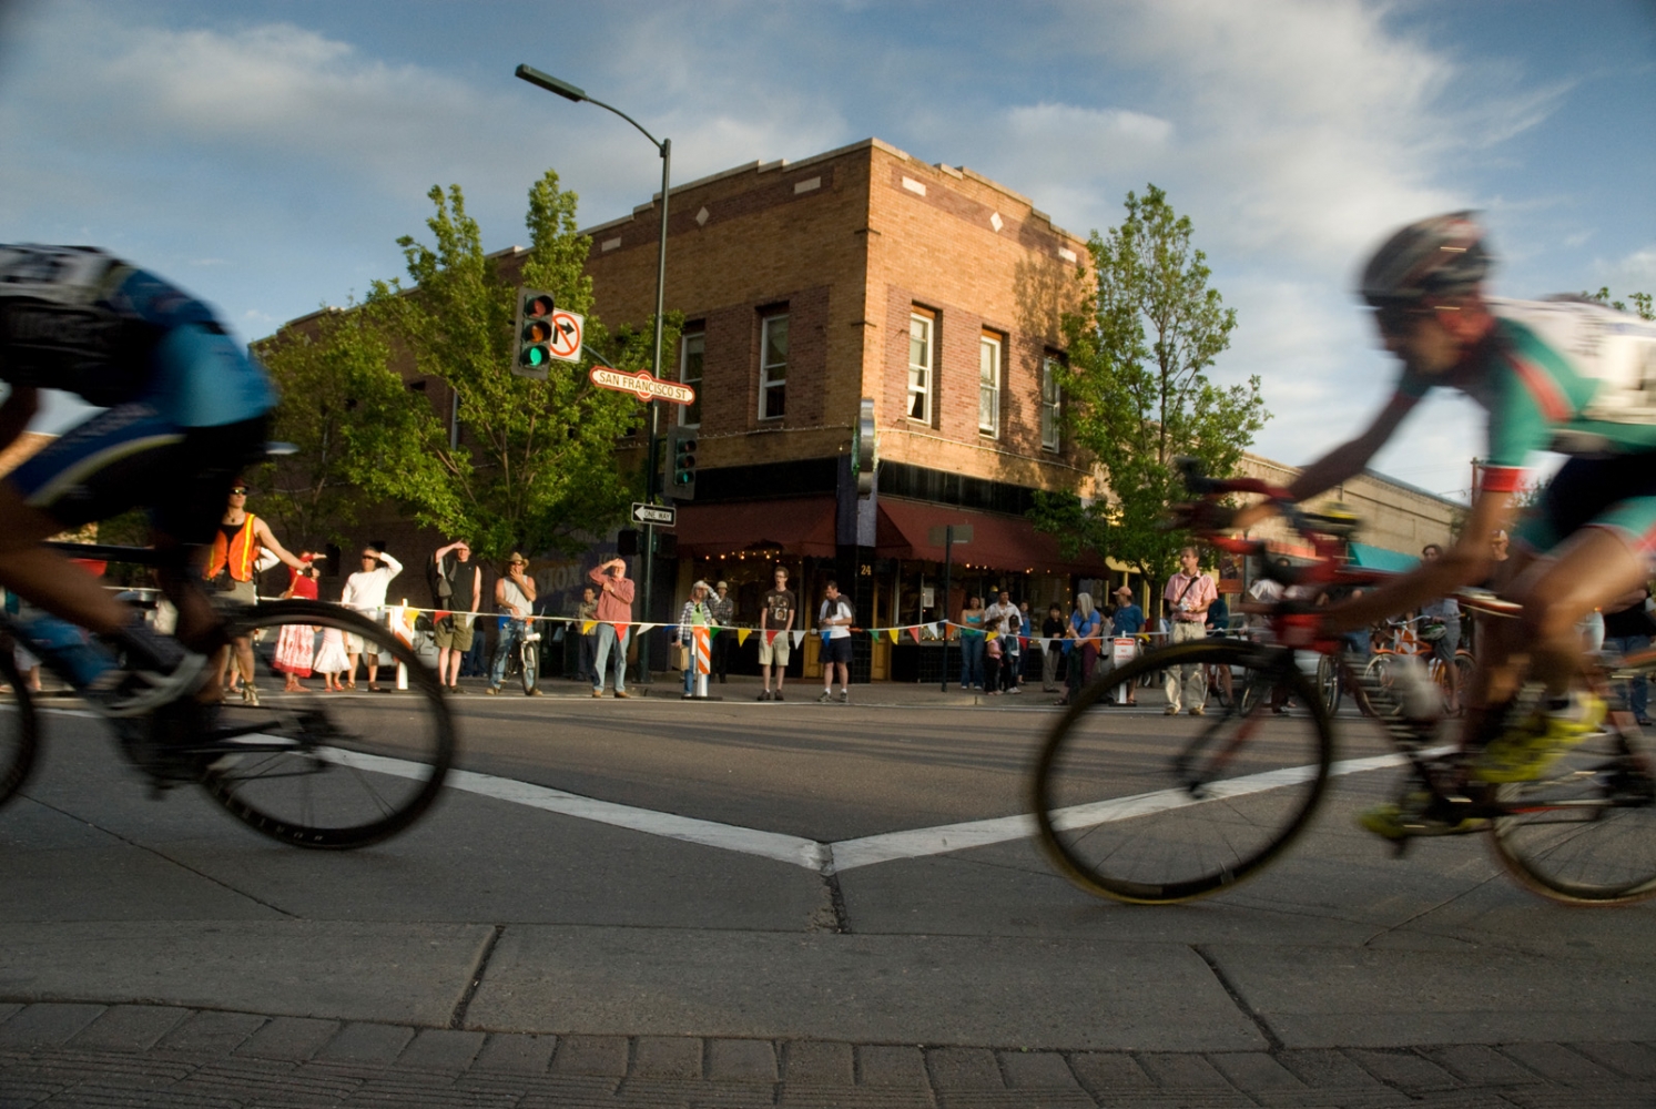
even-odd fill
[[[585,233],[599,314],[646,318],[654,204]],[[1085,242],[1027,197],[878,139],[674,187],[666,303],[687,326],[664,372],[699,392],[696,407],[669,410],[699,440],[679,594],[696,576],[724,578],[744,617],[757,616],[782,561],[802,601],[828,576],[851,578],[858,622],[893,626],[952,616],[967,591],[997,584],[1066,604],[1076,579],[1106,576],[1023,520],[1033,490],[1091,492],[1057,419],[1058,319],[1081,257]],[[879,472],[858,498],[863,397]],[[947,523],[974,536],[956,548],[944,603],[931,528]],[[876,646],[859,662],[873,677],[909,675],[893,654],[903,649]]]

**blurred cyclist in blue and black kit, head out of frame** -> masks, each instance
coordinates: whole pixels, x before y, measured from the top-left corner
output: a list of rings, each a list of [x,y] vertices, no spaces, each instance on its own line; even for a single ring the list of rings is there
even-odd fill
[[[240,470],[263,457],[275,387],[194,296],[101,250],[41,245],[0,245],[0,449],[28,427],[41,389],[103,409],[0,482],[0,586],[126,655],[86,690],[104,713],[174,700],[224,646],[189,559],[212,541]],[[177,641],[41,546],[139,505],[157,550],[177,556],[161,571]]]

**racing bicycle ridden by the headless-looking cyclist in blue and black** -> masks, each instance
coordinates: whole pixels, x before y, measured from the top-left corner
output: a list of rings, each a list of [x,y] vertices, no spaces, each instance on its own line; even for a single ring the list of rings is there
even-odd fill
[[[152,566],[147,548],[56,543],[70,554]],[[66,626],[65,626],[66,627]],[[255,680],[280,687],[277,642],[288,627],[356,636],[363,654],[389,655],[407,670],[409,695],[341,697],[321,689],[263,697],[258,705],[202,707],[184,697],[139,717],[106,718],[121,753],[152,793],[200,785],[232,816],[298,847],[361,847],[406,829],[436,801],[454,761],[455,730],[437,675],[388,627],[316,601],[272,601],[227,614],[227,634],[253,641]],[[30,631],[0,614],[0,631]],[[305,632],[300,632],[303,636]],[[79,641],[76,641],[78,644]],[[31,649],[76,685],[60,651]],[[0,803],[28,780],[46,712],[35,703],[12,659],[0,652]]]

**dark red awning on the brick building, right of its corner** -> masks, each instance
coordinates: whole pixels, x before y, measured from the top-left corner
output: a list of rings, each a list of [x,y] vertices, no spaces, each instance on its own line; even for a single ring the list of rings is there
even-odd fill
[[[874,551],[881,558],[917,558],[942,561],[942,543],[931,543],[929,531],[944,525],[972,525],[972,541],[956,545],[954,561],[987,566],[990,569],[1030,571],[1053,574],[1083,574],[1101,578],[1105,559],[1086,551],[1068,559],[1058,551],[1058,540],[1022,516],[999,516],[970,508],[952,508],[894,497],[879,498],[879,521],[874,531]]]

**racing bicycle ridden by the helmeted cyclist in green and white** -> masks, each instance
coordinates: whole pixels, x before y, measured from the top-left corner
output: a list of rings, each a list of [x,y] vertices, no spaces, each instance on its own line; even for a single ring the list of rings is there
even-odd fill
[[[1187,475],[1194,495],[1264,493],[1305,535],[1317,559],[1275,569],[1283,584],[1326,589],[1374,584],[1374,571],[1343,561],[1350,518],[1321,516],[1290,503],[1285,490],[1257,480],[1216,482]],[[1211,536],[1237,554],[1257,541]],[[1517,606],[1489,594],[1462,604],[1514,614]],[[1038,841],[1081,889],[1128,902],[1169,904],[1227,889],[1277,859],[1305,831],[1328,780],[1393,766],[1404,770],[1404,811],[1452,813],[1487,821],[1489,843],[1524,886],[1557,900],[1615,904],[1656,894],[1656,771],[1649,743],[1631,713],[1611,713],[1606,728],[1575,747],[1538,781],[1466,786],[1457,745],[1432,725],[1396,712],[1394,690],[1340,659],[1374,702],[1381,728],[1351,738],[1355,751],[1335,758],[1333,717],[1295,651],[1338,655],[1338,641],[1317,637],[1317,614],[1303,603],[1278,603],[1270,614],[1275,644],[1197,641],[1153,651],[1110,675],[1134,680],[1146,670],[1181,664],[1230,665],[1237,697],[1224,712],[1163,722],[1095,712],[1100,682],[1076,692],[1053,723],[1035,763],[1032,786]],[[1613,674],[1586,675],[1593,685],[1656,670],[1656,651],[1623,659]],[[1308,708],[1273,715],[1270,690],[1285,687]],[[1524,710],[1522,705],[1517,707]],[[1365,781],[1358,778],[1358,781]],[[1398,841],[1401,852],[1409,839]]]

